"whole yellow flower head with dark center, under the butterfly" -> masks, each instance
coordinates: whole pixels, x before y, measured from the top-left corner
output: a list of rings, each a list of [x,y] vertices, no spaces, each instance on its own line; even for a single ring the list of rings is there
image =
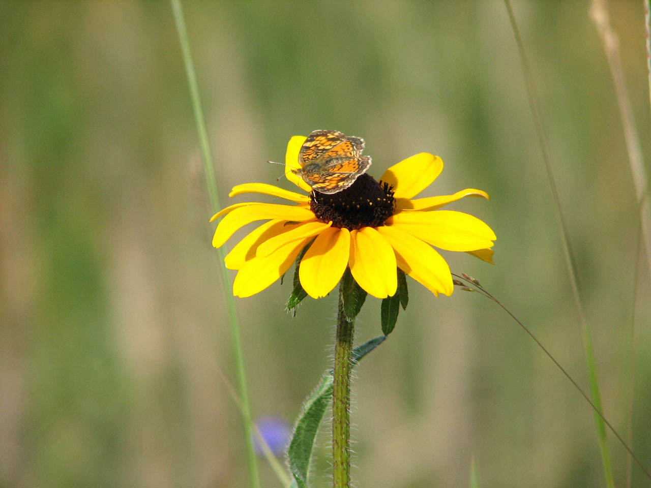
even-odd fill
[[[221,220],[212,240],[223,245],[246,224],[268,221],[235,245],[225,258],[226,267],[238,270],[233,294],[249,297],[280,278],[310,245],[299,264],[303,289],[313,298],[326,296],[346,267],[361,288],[378,298],[396,293],[396,267],[432,291],[451,295],[450,268],[434,247],[469,252],[492,262],[497,237],[484,222],[459,211],[439,210],[463,197],[488,194],[465,189],[453,195],[412,199],[443,170],[440,157],[420,153],[387,169],[376,182],[362,174],[339,193],[312,192],[290,169],[298,168],[305,137],[294,136],[287,145],[285,171],[305,194],[266,183],[237,185],[230,197],[263,193],[294,204],[248,202],[216,213]],[[434,247],[432,247],[434,246]]]

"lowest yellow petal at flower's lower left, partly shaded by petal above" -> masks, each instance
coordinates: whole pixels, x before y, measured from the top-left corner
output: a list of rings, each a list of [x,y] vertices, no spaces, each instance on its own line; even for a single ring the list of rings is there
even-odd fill
[[[256,256],[247,261],[235,277],[233,295],[242,298],[250,297],[267,288],[290,268],[298,253],[310,239],[311,237],[308,237],[301,241],[286,243],[265,258]]]

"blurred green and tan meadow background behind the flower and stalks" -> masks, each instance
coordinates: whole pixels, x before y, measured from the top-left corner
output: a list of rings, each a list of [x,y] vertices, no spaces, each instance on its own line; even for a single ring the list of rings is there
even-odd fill
[[[233,185],[275,183],[265,161],[314,129],[365,138],[376,177],[433,152],[446,167],[424,196],[492,196],[452,208],[492,226],[495,265],[448,253],[452,270],[479,278],[587,385],[501,1],[184,7],[224,206]],[[651,287],[588,8],[514,3],[605,413],[626,436],[635,364],[632,443],[648,467]],[[643,2],[609,8],[650,154]],[[169,3],[0,3],[1,486],[247,486],[240,413],[219,373],[234,383],[210,215]],[[306,300],[292,318],[289,292],[274,284],[238,306],[253,413],[291,423],[331,360],[336,308],[333,296]],[[476,294],[435,299],[413,281],[409,293],[389,340],[355,370],[359,486],[467,486],[473,456],[484,486],[604,485],[589,405],[516,323]],[[358,341],[380,334],[379,310],[369,298]],[[626,455],[610,439],[624,485]],[[315,486],[328,486],[326,433],[317,454]],[[648,480],[633,468],[633,483]]]

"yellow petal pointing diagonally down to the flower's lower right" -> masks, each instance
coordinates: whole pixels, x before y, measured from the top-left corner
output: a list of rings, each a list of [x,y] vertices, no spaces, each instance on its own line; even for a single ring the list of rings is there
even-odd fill
[[[452,295],[452,275],[443,256],[432,247],[395,227],[378,227],[378,232],[389,241],[396,253],[398,267],[438,296],[439,292]]]

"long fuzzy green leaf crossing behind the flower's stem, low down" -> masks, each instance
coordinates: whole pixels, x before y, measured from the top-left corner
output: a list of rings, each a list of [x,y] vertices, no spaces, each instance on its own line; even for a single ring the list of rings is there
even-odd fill
[[[385,336],[376,337],[362,346],[353,350],[353,365],[357,364],[365,355],[380,346]],[[333,372],[329,370],[314,388],[312,394],[303,403],[301,415],[294,427],[292,442],[287,450],[287,464],[292,476],[296,480],[297,488],[307,488],[307,471],[310,467],[312,447],[316,438],[316,431],[332,399]],[[292,483],[294,485],[294,483]]]

